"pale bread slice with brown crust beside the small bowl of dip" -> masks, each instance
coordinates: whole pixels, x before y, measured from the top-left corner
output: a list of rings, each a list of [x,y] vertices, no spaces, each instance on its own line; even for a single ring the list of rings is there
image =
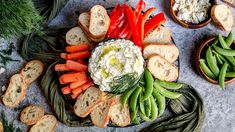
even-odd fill
[[[222,30],[233,29],[233,13],[227,5],[214,5],[211,9],[211,18]]]

